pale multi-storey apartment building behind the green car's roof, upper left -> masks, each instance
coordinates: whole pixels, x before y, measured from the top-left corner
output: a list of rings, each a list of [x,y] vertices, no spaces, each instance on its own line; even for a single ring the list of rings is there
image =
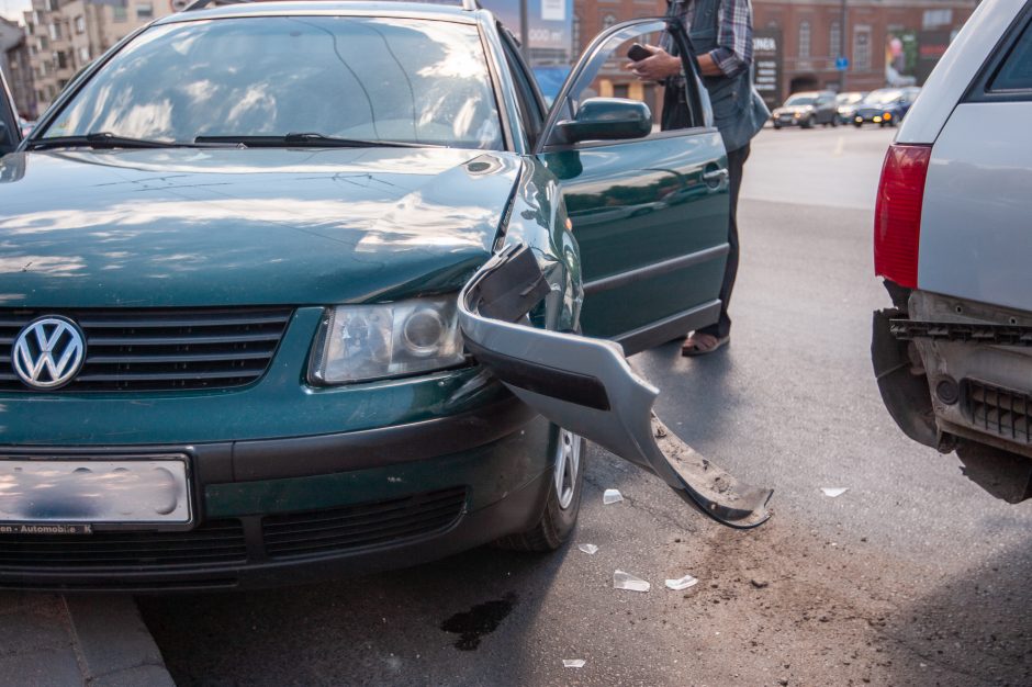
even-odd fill
[[[170,0],[32,0],[25,26],[38,111],[112,45],[173,11]]]

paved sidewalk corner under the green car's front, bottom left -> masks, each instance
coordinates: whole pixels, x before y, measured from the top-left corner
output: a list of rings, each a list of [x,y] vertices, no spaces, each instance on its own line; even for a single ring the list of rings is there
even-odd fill
[[[0,593],[0,686],[172,687],[131,596]]]

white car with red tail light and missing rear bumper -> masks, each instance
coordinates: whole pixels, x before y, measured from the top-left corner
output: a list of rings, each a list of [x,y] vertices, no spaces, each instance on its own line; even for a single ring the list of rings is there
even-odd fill
[[[1032,1],[987,0],[885,158],[875,272],[882,397],[997,496],[1032,496]]]

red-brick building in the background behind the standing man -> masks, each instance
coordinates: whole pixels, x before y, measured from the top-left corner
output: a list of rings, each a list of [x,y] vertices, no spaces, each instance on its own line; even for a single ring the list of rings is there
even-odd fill
[[[842,42],[841,0],[753,0],[758,36],[774,38],[779,71],[770,93],[814,88],[871,90],[890,83],[921,85],[967,21],[977,0],[846,0]],[[617,22],[665,13],[666,0],[574,0],[573,42],[580,54],[599,31]],[[835,58],[844,56],[844,77]],[[888,69],[886,68],[888,67]],[[651,102],[649,87],[626,74],[605,75],[602,94]]]

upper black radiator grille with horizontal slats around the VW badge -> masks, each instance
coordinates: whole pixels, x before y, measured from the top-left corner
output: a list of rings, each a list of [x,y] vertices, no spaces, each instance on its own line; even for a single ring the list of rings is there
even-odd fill
[[[68,317],[86,334],[86,364],[61,391],[125,392],[249,384],[269,367],[291,311],[0,311],[0,391],[31,391],[14,374],[11,349],[43,315]]]

